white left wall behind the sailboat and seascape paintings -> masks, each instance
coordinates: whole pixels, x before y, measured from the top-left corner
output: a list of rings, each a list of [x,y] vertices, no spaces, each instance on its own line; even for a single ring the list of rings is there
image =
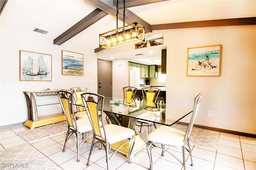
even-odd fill
[[[3,15],[3,13],[2,13]],[[97,58],[93,49],[72,46],[68,43],[53,45],[47,34],[18,32],[1,16],[1,119],[0,126],[22,123],[28,119],[26,99],[22,91],[44,89],[69,89],[88,87],[97,93]],[[52,55],[52,81],[19,81],[19,50]],[[84,54],[84,76],[62,75],[61,50]],[[91,83],[93,80],[94,83]]]

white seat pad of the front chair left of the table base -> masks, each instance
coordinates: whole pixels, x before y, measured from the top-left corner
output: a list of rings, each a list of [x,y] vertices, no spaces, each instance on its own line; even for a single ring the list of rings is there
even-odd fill
[[[134,136],[136,133],[134,130],[126,127],[121,127],[114,124],[104,125],[106,130],[106,136],[110,144],[119,142],[121,140],[127,139]]]

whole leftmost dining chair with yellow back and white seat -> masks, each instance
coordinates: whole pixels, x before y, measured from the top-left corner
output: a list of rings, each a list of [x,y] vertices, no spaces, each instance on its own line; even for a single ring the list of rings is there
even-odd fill
[[[63,147],[63,152],[65,152],[66,143],[68,139],[73,134],[76,134],[76,148],[77,148],[77,162],[79,162],[79,146],[81,146],[86,140],[92,136],[92,134],[87,136],[87,132],[92,131],[92,125],[90,123],[89,118],[80,118],[74,119],[75,114],[73,111],[73,94],[68,91],[58,91],[57,92],[58,99],[60,100],[60,105],[62,110],[66,116],[67,123],[68,123],[68,130],[66,134],[66,139]],[[79,144],[79,134],[84,134],[84,140]],[[87,136],[87,137],[86,137]]]

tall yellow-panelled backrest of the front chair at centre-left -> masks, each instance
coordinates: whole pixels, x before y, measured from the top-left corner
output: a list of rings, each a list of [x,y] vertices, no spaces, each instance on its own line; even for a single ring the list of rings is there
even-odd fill
[[[92,124],[93,132],[102,140],[106,139],[105,128],[103,122],[103,106],[104,106],[104,96],[94,94],[94,93],[83,93],[81,94],[84,106],[86,106],[86,112]],[[103,127],[103,131],[101,130]]]

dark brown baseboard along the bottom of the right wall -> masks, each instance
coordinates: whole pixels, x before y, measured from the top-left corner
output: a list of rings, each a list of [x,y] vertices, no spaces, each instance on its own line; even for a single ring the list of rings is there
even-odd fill
[[[188,123],[185,123],[185,122],[177,122],[177,124],[188,126]],[[223,132],[223,133],[229,133],[229,134],[236,134],[236,135],[239,135],[239,136],[246,136],[246,137],[250,137],[250,138],[256,138],[256,134],[237,132],[237,131],[234,131],[234,130],[227,130],[227,129],[222,129],[222,128],[207,127],[207,126],[196,125],[196,124],[194,124],[193,127],[203,128],[203,129],[213,130],[213,131],[218,131],[218,132]]]

